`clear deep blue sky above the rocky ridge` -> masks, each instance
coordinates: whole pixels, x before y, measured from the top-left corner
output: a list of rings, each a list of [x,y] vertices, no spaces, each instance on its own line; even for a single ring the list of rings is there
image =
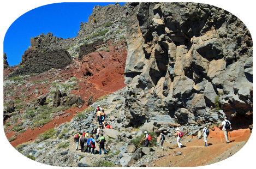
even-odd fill
[[[0,53],[6,53],[10,66],[18,65],[28,49],[30,38],[52,32],[58,38],[78,35],[81,22],[87,22],[96,5],[121,5],[125,0],[109,1],[0,1]]]

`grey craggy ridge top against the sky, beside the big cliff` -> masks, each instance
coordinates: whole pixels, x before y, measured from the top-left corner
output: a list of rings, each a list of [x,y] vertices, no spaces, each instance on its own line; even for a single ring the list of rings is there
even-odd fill
[[[126,5],[109,4],[105,7],[95,6],[93,8],[93,13],[88,17],[87,22],[80,23],[80,30],[78,32],[78,38],[85,38],[87,34],[94,31],[99,27],[105,25],[106,22],[118,22],[125,21],[126,19]]]

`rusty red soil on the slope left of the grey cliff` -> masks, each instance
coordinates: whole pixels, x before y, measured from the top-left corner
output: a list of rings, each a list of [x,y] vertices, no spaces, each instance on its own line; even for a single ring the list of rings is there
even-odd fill
[[[26,79],[27,82],[23,86],[15,89],[15,94],[13,96],[5,97],[4,99],[21,99],[20,96],[23,94],[21,90],[23,88],[26,88],[28,92],[26,95],[28,96],[26,99],[21,100],[26,100],[25,102],[29,102],[37,99],[38,96],[49,93],[47,88],[51,87],[52,84],[41,85],[38,83],[37,85],[30,87],[26,87],[25,85],[32,81],[44,79],[49,79],[51,82],[53,82],[57,78],[62,78],[63,80],[61,82],[64,82],[70,79],[70,77],[76,77],[79,79],[78,84],[80,85],[80,88],[78,90],[72,90],[72,94],[81,95],[82,99],[85,101],[88,100],[91,95],[93,96],[93,100],[96,100],[100,96],[111,94],[116,90],[124,88],[126,86],[124,84],[124,67],[127,57],[126,44],[124,43],[124,40],[122,40],[114,45],[109,42],[108,45],[109,52],[100,51],[90,53],[89,55],[84,56],[81,62],[74,61],[74,63],[70,64],[68,69],[64,68],[58,70],[49,70],[46,73],[31,76],[30,79]],[[9,68],[8,70],[1,72],[2,74],[0,73],[0,75],[8,75],[8,73],[13,71],[13,69],[14,68]],[[38,88],[38,92],[32,93],[35,87]],[[6,141],[8,138],[13,137],[15,132],[7,132],[7,130],[0,131],[0,142],[2,143],[0,144],[0,158],[4,158],[6,155],[8,155],[15,146],[24,142],[36,140],[37,136],[46,130],[55,128],[59,124],[70,122],[76,111],[81,112],[87,107],[88,106],[84,104],[82,108],[70,108],[69,110],[65,111],[66,113],[70,113],[70,116],[53,119],[52,122],[45,124],[41,128],[34,130],[27,129],[22,134],[15,136],[17,139],[10,143],[6,143]],[[7,129],[12,128],[13,126],[14,125],[8,126]]]

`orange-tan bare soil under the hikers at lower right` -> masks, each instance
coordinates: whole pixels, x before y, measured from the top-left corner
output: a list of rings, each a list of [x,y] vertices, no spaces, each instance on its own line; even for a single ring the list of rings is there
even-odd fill
[[[162,159],[154,162],[154,164],[156,164],[155,166],[149,168],[164,168],[169,165],[171,165],[171,168],[200,167],[201,165],[205,165],[206,162],[223,154],[237,143],[253,140],[255,138],[255,135],[251,134],[250,129],[238,129],[230,132],[233,142],[231,142],[230,135],[228,134],[230,143],[225,144],[226,141],[223,131],[220,133],[220,130],[217,127],[215,127],[215,131],[209,131],[210,134],[207,137],[207,143],[210,145],[208,147],[204,147],[203,138],[200,140],[197,138],[193,140],[195,137],[187,137],[186,140],[190,138],[193,141],[184,143],[186,140],[182,140],[181,143],[183,143],[185,147],[181,149],[177,149],[175,144],[173,147],[174,149],[163,152],[166,155]],[[168,143],[164,145],[168,146]],[[182,152],[182,155],[172,156],[172,154],[176,154],[179,151]]]

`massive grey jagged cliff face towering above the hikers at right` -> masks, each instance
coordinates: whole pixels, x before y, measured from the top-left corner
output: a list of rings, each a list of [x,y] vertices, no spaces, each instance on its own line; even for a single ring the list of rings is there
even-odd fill
[[[253,123],[255,7],[254,1],[130,1],[129,114],[143,117],[146,110],[153,119],[160,111],[170,121],[199,123],[218,117],[221,106],[234,125]],[[134,88],[151,94],[145,104],[129,99]]]

